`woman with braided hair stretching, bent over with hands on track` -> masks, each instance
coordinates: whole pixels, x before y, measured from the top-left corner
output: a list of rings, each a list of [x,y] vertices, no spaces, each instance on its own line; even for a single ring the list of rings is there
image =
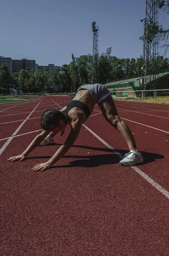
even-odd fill
[[[46,110],[41,116],[41,127],[43,131],[37,135],[26,150],[16,156],[10,157],[8,161],[23,161],[26,156],[38,145],[47,145],[54,143],[53,137],[59,133],[64,133],[66,125],[71,125],[71,131],[66,142],[60,146],[56,153],[46,162],[37,164],[32,168],[33,171],[44,171],[49,169],[71,148],[77,139],[81,125],[92,113],[95,104],[98,104],[104,118],[112,127],[120,132],[126,141],[130,152],[120,161],[122,165],[133,166],[136,163],[143,163],[143,157],[137,150],[135,140],[129,127],[120,119],[115,107],[115,103],[109,90],[102,84],[83,84],[77,90],[74,99],[60,111],[55,109]]]

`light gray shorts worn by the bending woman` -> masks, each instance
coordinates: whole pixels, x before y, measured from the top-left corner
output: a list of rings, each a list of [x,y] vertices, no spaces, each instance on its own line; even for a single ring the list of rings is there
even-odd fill
[[[79,90],[88,90],[92,95],[95,104],[98,104],[101,100],[111,95],[109,90],[103,84],[82,84],[77,89],[77,92]]]

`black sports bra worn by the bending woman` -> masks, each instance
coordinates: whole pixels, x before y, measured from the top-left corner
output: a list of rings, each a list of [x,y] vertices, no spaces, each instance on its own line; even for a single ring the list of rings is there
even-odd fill
[[[62,111],[63,114],[66,115],[67,121],[71,122],[71,120],[69,119],[68,113],[71,110],[71,108],[80,108],[86,115],[86,119],[88,119],[88,117],[90,116],[91,112],[88,108],[88,106],[86,104],[84,104],[83,102],[80,102],[79,100],[72,100],[71,102],[69,102],[69,104],[66,106],[66,109]],[[86,121],[85,119],[85,121]],[[84,121],[84,122],[85,122]]]

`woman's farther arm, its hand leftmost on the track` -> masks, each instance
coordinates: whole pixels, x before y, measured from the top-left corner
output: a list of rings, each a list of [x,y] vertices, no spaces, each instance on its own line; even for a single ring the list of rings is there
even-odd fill
[[[16,157],[10,157],[7,159],[7,161],[10,162],[14,162],[14,161],[23,161],[27,155],[32,152],[32,150],[34,150],[34,148],[36,148],[45,138],[46,136],[50,133],[50,131],[42,131],[40,134],[37,135],[37,137],[34,138],[34,140],[32,141],[32,143],[26,148],[26,150],[16,156]]]

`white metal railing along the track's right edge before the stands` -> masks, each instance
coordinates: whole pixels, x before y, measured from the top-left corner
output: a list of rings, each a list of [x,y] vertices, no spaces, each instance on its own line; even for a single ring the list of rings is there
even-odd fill
[[[162,89],[162,90],[136,90],[136,91],[134,91],[134,90],[131,90],[131,91],[111,91],[111,90],[109,90],[109,92],[110,93],[116,93],[116,95],[112,94],[112,96],[113,97],[117,97],[117,100],[119,100],[120,97],[123,97],[124,101],[126,100],[126,98],[130,98],[129,96],[126,96],[126,93],[132,93],[132,101],[133,101],[133,99],[137,97],[137,93],[140,92],[141,102],[143,102],[143,99],[145,99],[146,97],[154,97],[154,103],[155,103],[155,99],[156,99],[156,94],[158,92],[162,92],[162,93],[166,92],[167,96],[169,96],[169,89]],[[149,96],[147,96],[148,92],[150,92]],[[124,96],[120,95],[120,93],[124,93]],[[134,97],[134,93],[135,93],[135,97]]]

